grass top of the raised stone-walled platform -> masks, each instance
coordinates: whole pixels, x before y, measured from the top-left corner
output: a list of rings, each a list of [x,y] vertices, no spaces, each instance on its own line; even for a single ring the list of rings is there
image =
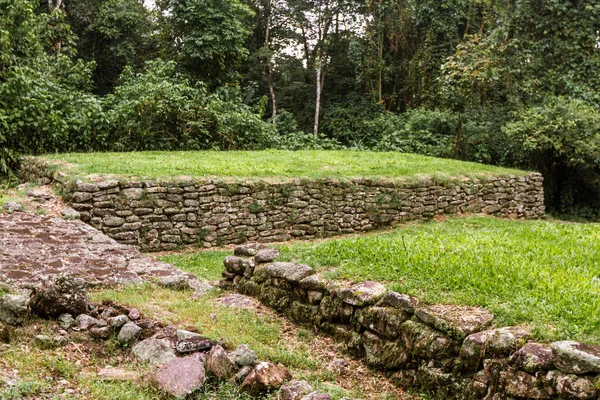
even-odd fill
[[[46,156],[73,164],[72,175],[111,174],[124,177],[177,176],[222,179],[389,178],[428,176],[440,181],[456,177],[523,175],[489,165],[402,153],[368,151],[199,151],[59,154]]]

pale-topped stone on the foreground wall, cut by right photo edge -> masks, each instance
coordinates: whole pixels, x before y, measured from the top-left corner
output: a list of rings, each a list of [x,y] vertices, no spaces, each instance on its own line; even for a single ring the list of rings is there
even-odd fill
[[[574,341],[552,343],[554,365],[569,374],[600,372],[600,346]]]

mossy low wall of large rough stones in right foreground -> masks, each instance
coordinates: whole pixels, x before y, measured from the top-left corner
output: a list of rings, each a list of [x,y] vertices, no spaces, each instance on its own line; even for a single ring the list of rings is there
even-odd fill
[[[235,254],[224,261],[222,287],[333,336],[403,388],[440,399],[598,399],[599,346],[534,343],[526,327],[492,328],[484,309],[328,281],[307,265],[273,262],[279,252],[262,245]]]

